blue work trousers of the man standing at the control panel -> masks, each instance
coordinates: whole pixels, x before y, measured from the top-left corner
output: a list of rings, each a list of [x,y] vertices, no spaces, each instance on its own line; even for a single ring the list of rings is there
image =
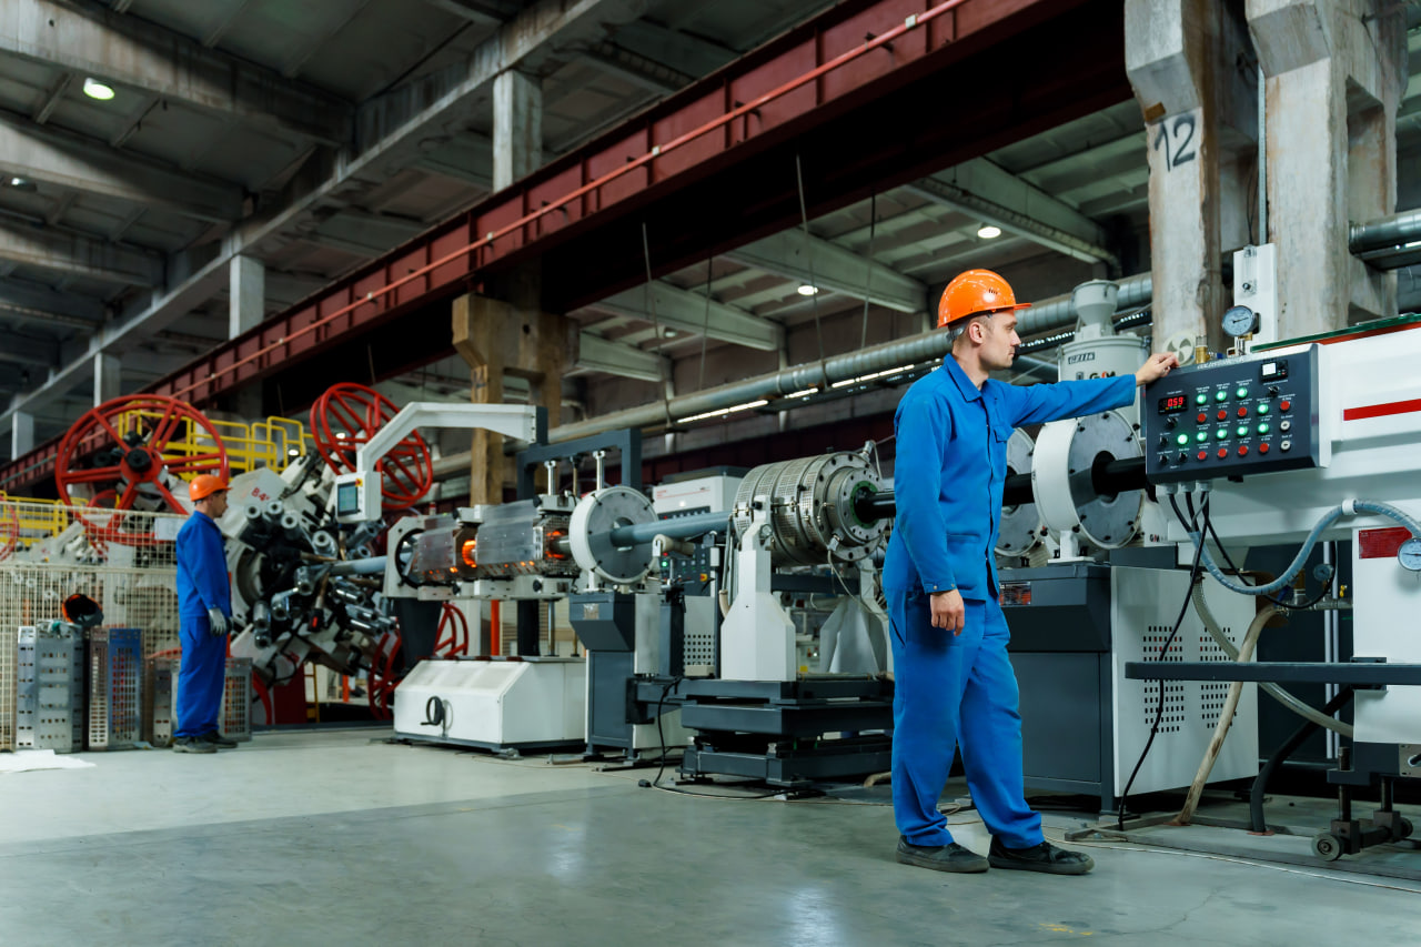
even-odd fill
[[[988,830],[1007,847],[1042,842],[1022,788],[1022,717],[1010,637],[996,599],[966,599],[961,636],[932,627],[925,592],[888,592],[894,657],[892,809],[911,845],[948,845],[938,812],[953,745]]]

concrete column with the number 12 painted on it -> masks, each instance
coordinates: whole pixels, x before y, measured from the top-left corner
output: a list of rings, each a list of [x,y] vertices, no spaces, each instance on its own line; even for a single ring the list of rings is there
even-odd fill
[[[1232,301],[1225,250],[1250,242],[1238,210],[1255,166],[1256,70],[1248,30],[1221,0],[1125,0],[1125,68],[1145,118],[1157,348],[1206,336],[1221,348]],[[1241,63],[1245,65],[1241,67]]]

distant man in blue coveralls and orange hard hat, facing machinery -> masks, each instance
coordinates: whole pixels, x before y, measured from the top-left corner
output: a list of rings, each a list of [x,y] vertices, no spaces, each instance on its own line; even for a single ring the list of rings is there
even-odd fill
[[[236,741],[217,731],[227,673],[227,624],[232,582],[216,520],[227,512],[227,483],[202,474],[188,485],[193,512],[178,530],[178,728],[173,749],[212,754]]]

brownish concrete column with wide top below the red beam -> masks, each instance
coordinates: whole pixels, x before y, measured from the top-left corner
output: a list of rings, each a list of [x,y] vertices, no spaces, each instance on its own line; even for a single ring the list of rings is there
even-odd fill
[[[469,363],[475,404],[503,404],[506,375],[527,378],[530,398],[547,408],[547,425],[561,421],[563,374],[577,360],[577,324],[485,296],[453,301],[453,347]],[[475,431],[469,502],[502,503],[514,471],[503,435]]]

